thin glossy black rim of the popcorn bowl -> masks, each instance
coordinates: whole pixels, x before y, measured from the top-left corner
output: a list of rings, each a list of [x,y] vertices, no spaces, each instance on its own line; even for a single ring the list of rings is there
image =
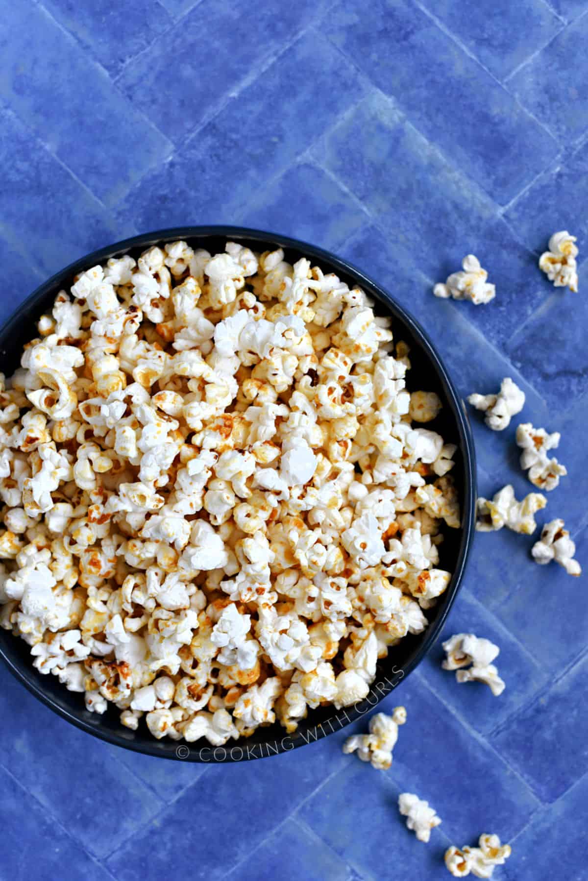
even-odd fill
[[[265,744],[255,744],[253,747],[249,748],[246,745],[247,740],[243,740],[243,738],[235,741],[235,745],[233,747],[230,747],[229,744],[227,744],[227,749],[225,749],[224,747],[216,747],[214,749],[212,747],[197,747],[196,745],[187,744],[184,741],[177,743],[175,741],[168,741],[167,738],[164,741],[156,740],[155,738],[153,738],[153,744],[150,744],[149,741],[145,741],[144,743],[135,742],[129,737],[132,732],[129,731],[127,737],[123,736],[123,730],[126,731],[126,729],[123,729],[122,725],[120,734],[106,728],[94,727],[92,724],[86,722],[81,717],[81,714],[84,712],[84,707],[80,707],[79,711],[74,712],[73,710],[69,710],[57,704],[56,701],[53,700],[51,695],[45,692],[45,690],[33,677],[33,667],[31,666],[30,669],[24,668],[21,667],[19,663],[14,663],[12,659],[4,653],[4,648],[2,646],[2,643],[0,643],[0,657],[2,658],[8,669],[11,671],[12,675],[16,677],[22,685],[25,685],[26,689],[31,692],[34,697],[36,697],[38,700],[41,700],[41,703],[43,703],[46,707],[49,707],[49,709],[53,710],[54,713],[60,715],[67,722],[71,722],[71,724],[75,725],[76,728],[85,731],[86,734],[93,735],[93,737],[98,737],[100,740],[106,741],[110,744],[114,744],[115,746],[121,746],[124,749],[144,753],[145,755],[156,756],[160,759],[180,759],[182,761],[205,763],[211,761],[215,763],[229,763],[238,762],[245,759],[269,758],[272,755],[278,755],[286,751],[291,751],[306,744],[314,743],[317,740],[321,740],[323,737],[328,737],[331,733],[334,733],[336,730],[338,730],[332,727],[331,722],[333,720],[338,722],[339,730],[346,727],[346,725],[355,722],[361,717],[361,715],[368,713],[369,710],[376,707],[377,704],[381,700],[383,700],[383,698],[385,698],[391,691],[393,691],[393,689],[396,688],[396,686],[400,682],[402,682],[415,669],[415,667],[418,666],[419,663],[421,663],[422,659],[425,657],[425,655],[428,654],[429,650],[433,647],[435,641],[439,637],[443,629],[445,620],[449,615],[451,606],[453,605],[455,598],[458,595],[458,590],[461,587],[464,578],[465,565],[469,556],[469,552],[472,548],[473,533],[475,530],[477,490],[476,462],[473,433],[470,426],[468,413],[465,407],[465,402],[459,394],[458,389],[454,385],[454,382],[451,379],[450,374],[443,363],[443,359],[436,351],[435,345],[428,337],[427,331],[421,327],[420,322],[413,318],[413,315],[407,312],[406,309],[402,307],[397,300],[394,299],[393,295],[389,291],[387,291],[386,288],[383,287],[383,285],[380,285],[372,278],[369,278],[364,273],[364,271],[355,266],[354,263],[350,263],[349,261],[339,257],[338,255],[331,253],[331,251],[328,251],[325,248],[320,248],[316,245],[310,244],[309,242],[302,241],[300,239],[294,239],[291,236],[283,235],[281,233],[270,233],[264,230],[254,229],[247,226],[173,226],[160,230],[154,230],[153,232],[149,233],[139,233],[138,235],[131,236],[130,238],[116,241],[113,244],[98,248],[87,255],[79,257],[77,260],[65,266],[62,270],[54,273],[46,281],[42,282],[41,285],[36,287],[33,292],[29,294],[26,300],[23,300],[23,302],[19,304],[19,307],[10,316],[10,318],[6,322],[4,322],[4,325],[0,329],[0,337],[5,337],[7,333],[11,332],[13,326],[19,324],[23,312],[38,307],[41,300],[44,299],[50,289],[53,288],[56,284],[61,285],[67,278],[71,278],[82,270],[89,269],[90,267],[96,265],[96,263],[103,263],[104,261],[108,260],[109,257],[121,255],[130,251],[132,248],[147,248],[151,245],[155,245],[161,242],[186,239],[204,239],[206,237],[223,237],[227,238],[227,240],[229,241],[239,241],[245,239],[249,241],[258,241],[260,244],[263,243],[265,245],[275,245],[276,247],[289,248],[300,253],[301,255],[308,255],[318,262],[324,262],[328,264],[330,268],[332,267],[335,270],[339,270],[344,275],[354,278],[354,280],[356,280],[359,285],[367,289],[368,292],[373,293],[376,296],[376,299],[379,300],[383,304],[383,306],[391,310],[393,317],[398,319],[400,322],[404,322],[406,324],[413,336],[418,340],[418,343],[427,353],[428,358],[433,362],[437,377],[443,385],[443,392],[445,396],[447,396],[448,402],[450,403],[451,413],[453,418],[455,418],[458,428],[459,445],[461,454],[463,456],[464,473],[464,498],[462,500],[462,522],[460,527],[462,537],[459,545],[457,563],[451,576],[450,586],[443,594],[443,611],[435,620],[435,624],[428,626],[428,629],[425,631],[424,638],[421,640],[420,644],[413,650],[412,655],[409,656],[407,662],[403,665],[403,667],[398,669],[396,668],[396,666],[392,667],[391,679],[386,677],[386,683],[372,683],[370,685],[368,697],[365,700],[356,703],[353,707],[344,707],[339,711],[334,711],[333,708],[333,715],[331,716],[331,719],[328,720],[331,726],[331,730],[325,729],[324,724],[319,722],[314,727],[314,733],[312,735],[310,735],[309,729],[309,731],[307,732],[307,737],[295,737],[294,732],[293,735],[285,734],[285,736],[282,737],[280,741],[275,741],[273,745],[270,745],[268,742],[266,742]],[[264,250],[265,249],[267,248],[264,248]],[[375,686],[377,686],[377,695],[376,693],[373,693]],[[376,701],[374,703],[369,700],[373,697],[376,697]],[[339,720],[339,717],[345,718],[346,721],[341,722]],[[286,741],[289,741],[290,743],[286,744]],[[169,747],[167,751],[162,750],[162,743]],[[244,746],[243,743],[245,744]],[[264,745],[267,747],[265,752]],[[261,748],[258,749],[259,747]],[[234,751],[236,750],[239,750],[241,755],[235,758],[232,753],[234,753]],[[220,752],[219,756],[217,756],[217,752]],[[211,755],[205,755],[205,753],[211,753]]]

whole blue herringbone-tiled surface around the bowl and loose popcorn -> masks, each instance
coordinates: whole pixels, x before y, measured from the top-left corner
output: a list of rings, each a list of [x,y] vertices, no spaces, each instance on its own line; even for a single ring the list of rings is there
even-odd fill
[[[261,226],[331,248],[435,339],[464,396],[503,376],[520,420],[560,431],[563,517],[588,568],[588,278],[555,289],[555,230],[588,254],[586,0],[18,0],[0,35],[0,317],[93,248],[163,226]],[[489,306],[431,287],[478,255]],[[514,432],[473,415],[480,492],[533,489]],[[440,644],[383,704],[406,706],[387,773],[351,730],[238,766],[102,744],[0,670],[0,877],[443,878],[450,843],[498,833],[495,877],[588,878],[585,581],[532,539],[477,535],[443,636],[501,647],[506,691],[458,685]],[[354,726],[361,730],[361,725]],[[435,807],[428,845],[402,791]],[[278,868],[277,868],[278,867]]]

